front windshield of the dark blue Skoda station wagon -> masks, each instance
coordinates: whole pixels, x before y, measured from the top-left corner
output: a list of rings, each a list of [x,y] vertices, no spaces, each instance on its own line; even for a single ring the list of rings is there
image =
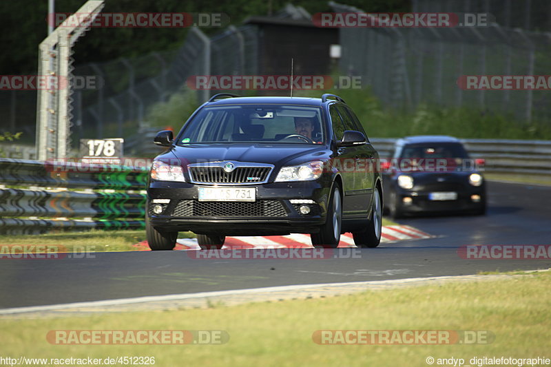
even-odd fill
[[[325,141],[320,107],[223,105],[202,108],[178,145],[193,143],[295,143]]]

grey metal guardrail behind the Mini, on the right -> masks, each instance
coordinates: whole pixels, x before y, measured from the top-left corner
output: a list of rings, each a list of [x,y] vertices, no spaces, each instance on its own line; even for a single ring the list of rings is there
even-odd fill
[[[393,138],[372,138],[382,158],[391,156]],[[462,139],[472,158],[484,158],[484,171],[495,174],[529,174],[551,178],[551,141]]]

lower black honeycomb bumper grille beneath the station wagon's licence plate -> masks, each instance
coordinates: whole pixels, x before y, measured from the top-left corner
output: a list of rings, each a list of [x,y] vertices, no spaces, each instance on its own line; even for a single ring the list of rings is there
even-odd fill
[[[174,217],[285,217],[287,212],[278,200],[256,202],[220,202],[180,200]]]

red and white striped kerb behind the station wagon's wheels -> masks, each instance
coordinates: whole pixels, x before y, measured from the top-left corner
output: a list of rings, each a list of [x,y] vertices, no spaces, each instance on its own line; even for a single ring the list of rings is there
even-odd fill
[[[410,226],[385,226],[382,228],[381,243],[392,243],[404,240],[420,240],[422,238],[433,238],[426,232],[419,231]],[[269,236],[235,236],[227,237],[222,249],[236,248],[260,248],[260,249],[285,249],[296,247],[312,247],[310,235],[293,233],[291,235],[269,235]],[[147,241],[134,244],[140,250],[147,251]],[[340,236],[339,247],[355,247],[352,233],[344,233]],[[176,241],[175,250],[199,250],[196,238],[180,238]]]

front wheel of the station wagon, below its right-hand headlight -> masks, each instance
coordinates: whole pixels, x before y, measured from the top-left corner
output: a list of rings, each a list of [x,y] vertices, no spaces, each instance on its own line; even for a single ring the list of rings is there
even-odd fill
[[[314,247],[335,249],[340,242],[340,229],[342,227],[342,198],[337,185],[333,188],[327,208],[325,224],[320,227],[319,233],[312,233],[310,238]]]

